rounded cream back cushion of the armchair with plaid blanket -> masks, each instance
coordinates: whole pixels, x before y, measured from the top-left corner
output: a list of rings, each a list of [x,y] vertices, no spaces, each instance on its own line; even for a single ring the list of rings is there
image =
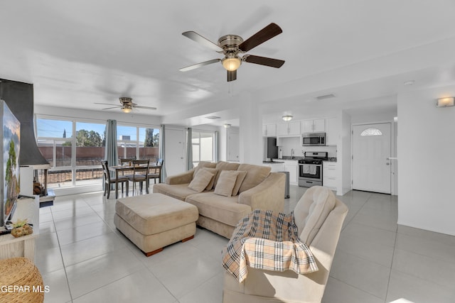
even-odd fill
[[[327,187],[314,186],[306,189],[294,209],[294,222],[302,242],[308,246],[311,244],[335,203],[336,197]]]

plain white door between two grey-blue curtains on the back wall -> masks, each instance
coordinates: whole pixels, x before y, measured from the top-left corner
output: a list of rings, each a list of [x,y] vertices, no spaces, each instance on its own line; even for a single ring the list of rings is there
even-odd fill
[[[183,129],[166,128],[164,166],[166,175],[172,176],[185,171],[185,131]]]

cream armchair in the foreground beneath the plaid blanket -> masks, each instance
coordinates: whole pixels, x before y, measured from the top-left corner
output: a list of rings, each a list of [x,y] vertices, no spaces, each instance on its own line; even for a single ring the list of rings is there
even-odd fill
[[[307,189],[294,209],[294,222],[319,270],[297,275],[291,270],[248,268],[242,283],[225,272],[223,303],[321,302],[346,214],[348,207],[330,189],[319,186]]]

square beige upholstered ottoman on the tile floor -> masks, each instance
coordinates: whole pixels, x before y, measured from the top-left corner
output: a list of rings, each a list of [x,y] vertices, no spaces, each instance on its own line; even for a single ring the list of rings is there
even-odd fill
[[[164,194],[117,199],[114,224],[147,257],[196,233],[198,208]]]

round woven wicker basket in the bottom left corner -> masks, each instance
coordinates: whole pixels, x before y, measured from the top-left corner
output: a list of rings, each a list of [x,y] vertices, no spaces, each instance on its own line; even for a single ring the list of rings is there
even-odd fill
[[[43,279],[27,258],[0,260],[0,302],[43,302]]]

